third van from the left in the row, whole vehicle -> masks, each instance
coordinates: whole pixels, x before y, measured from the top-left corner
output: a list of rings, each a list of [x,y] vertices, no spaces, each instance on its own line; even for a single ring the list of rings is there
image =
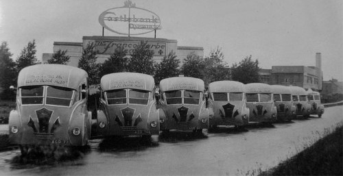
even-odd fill
[[[202,133],[209,128],[213,108],[204,97],[204,81],[193,77],[169,77],[160,82],[161,130],[193,130]]]

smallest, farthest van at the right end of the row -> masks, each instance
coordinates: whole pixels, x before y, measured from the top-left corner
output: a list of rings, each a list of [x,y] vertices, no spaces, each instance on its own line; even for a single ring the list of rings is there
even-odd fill
[[[320,93],[309,89],[307,90],[307,99],[311,104],[310,114],[316,114],[318,117],[322,117],[322,114],[324,114],[324,105],[320,101]]]

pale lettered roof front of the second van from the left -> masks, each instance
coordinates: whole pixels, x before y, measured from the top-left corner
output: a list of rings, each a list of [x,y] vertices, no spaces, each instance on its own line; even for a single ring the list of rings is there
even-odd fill
[[[154,78],[143,73],[111,73],[104,75],[100,81],[102,90],[117,90],[133,88],[152,91],[155,86]]]

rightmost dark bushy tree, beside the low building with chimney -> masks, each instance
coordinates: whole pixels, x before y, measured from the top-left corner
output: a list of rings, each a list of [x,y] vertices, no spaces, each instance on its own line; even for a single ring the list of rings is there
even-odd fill
[[[231,75],[234,81],[244,84],[259,82],[259,61],[253,61],[251,57],[251,55],[247,56],[239,64],[233,64]]]

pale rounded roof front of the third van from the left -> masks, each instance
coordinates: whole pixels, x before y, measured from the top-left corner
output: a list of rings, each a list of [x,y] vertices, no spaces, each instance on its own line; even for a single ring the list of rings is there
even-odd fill
[[[198,90],[204,91],[204,81],[194,77],[169,77],[160,81],[160,90]]]

